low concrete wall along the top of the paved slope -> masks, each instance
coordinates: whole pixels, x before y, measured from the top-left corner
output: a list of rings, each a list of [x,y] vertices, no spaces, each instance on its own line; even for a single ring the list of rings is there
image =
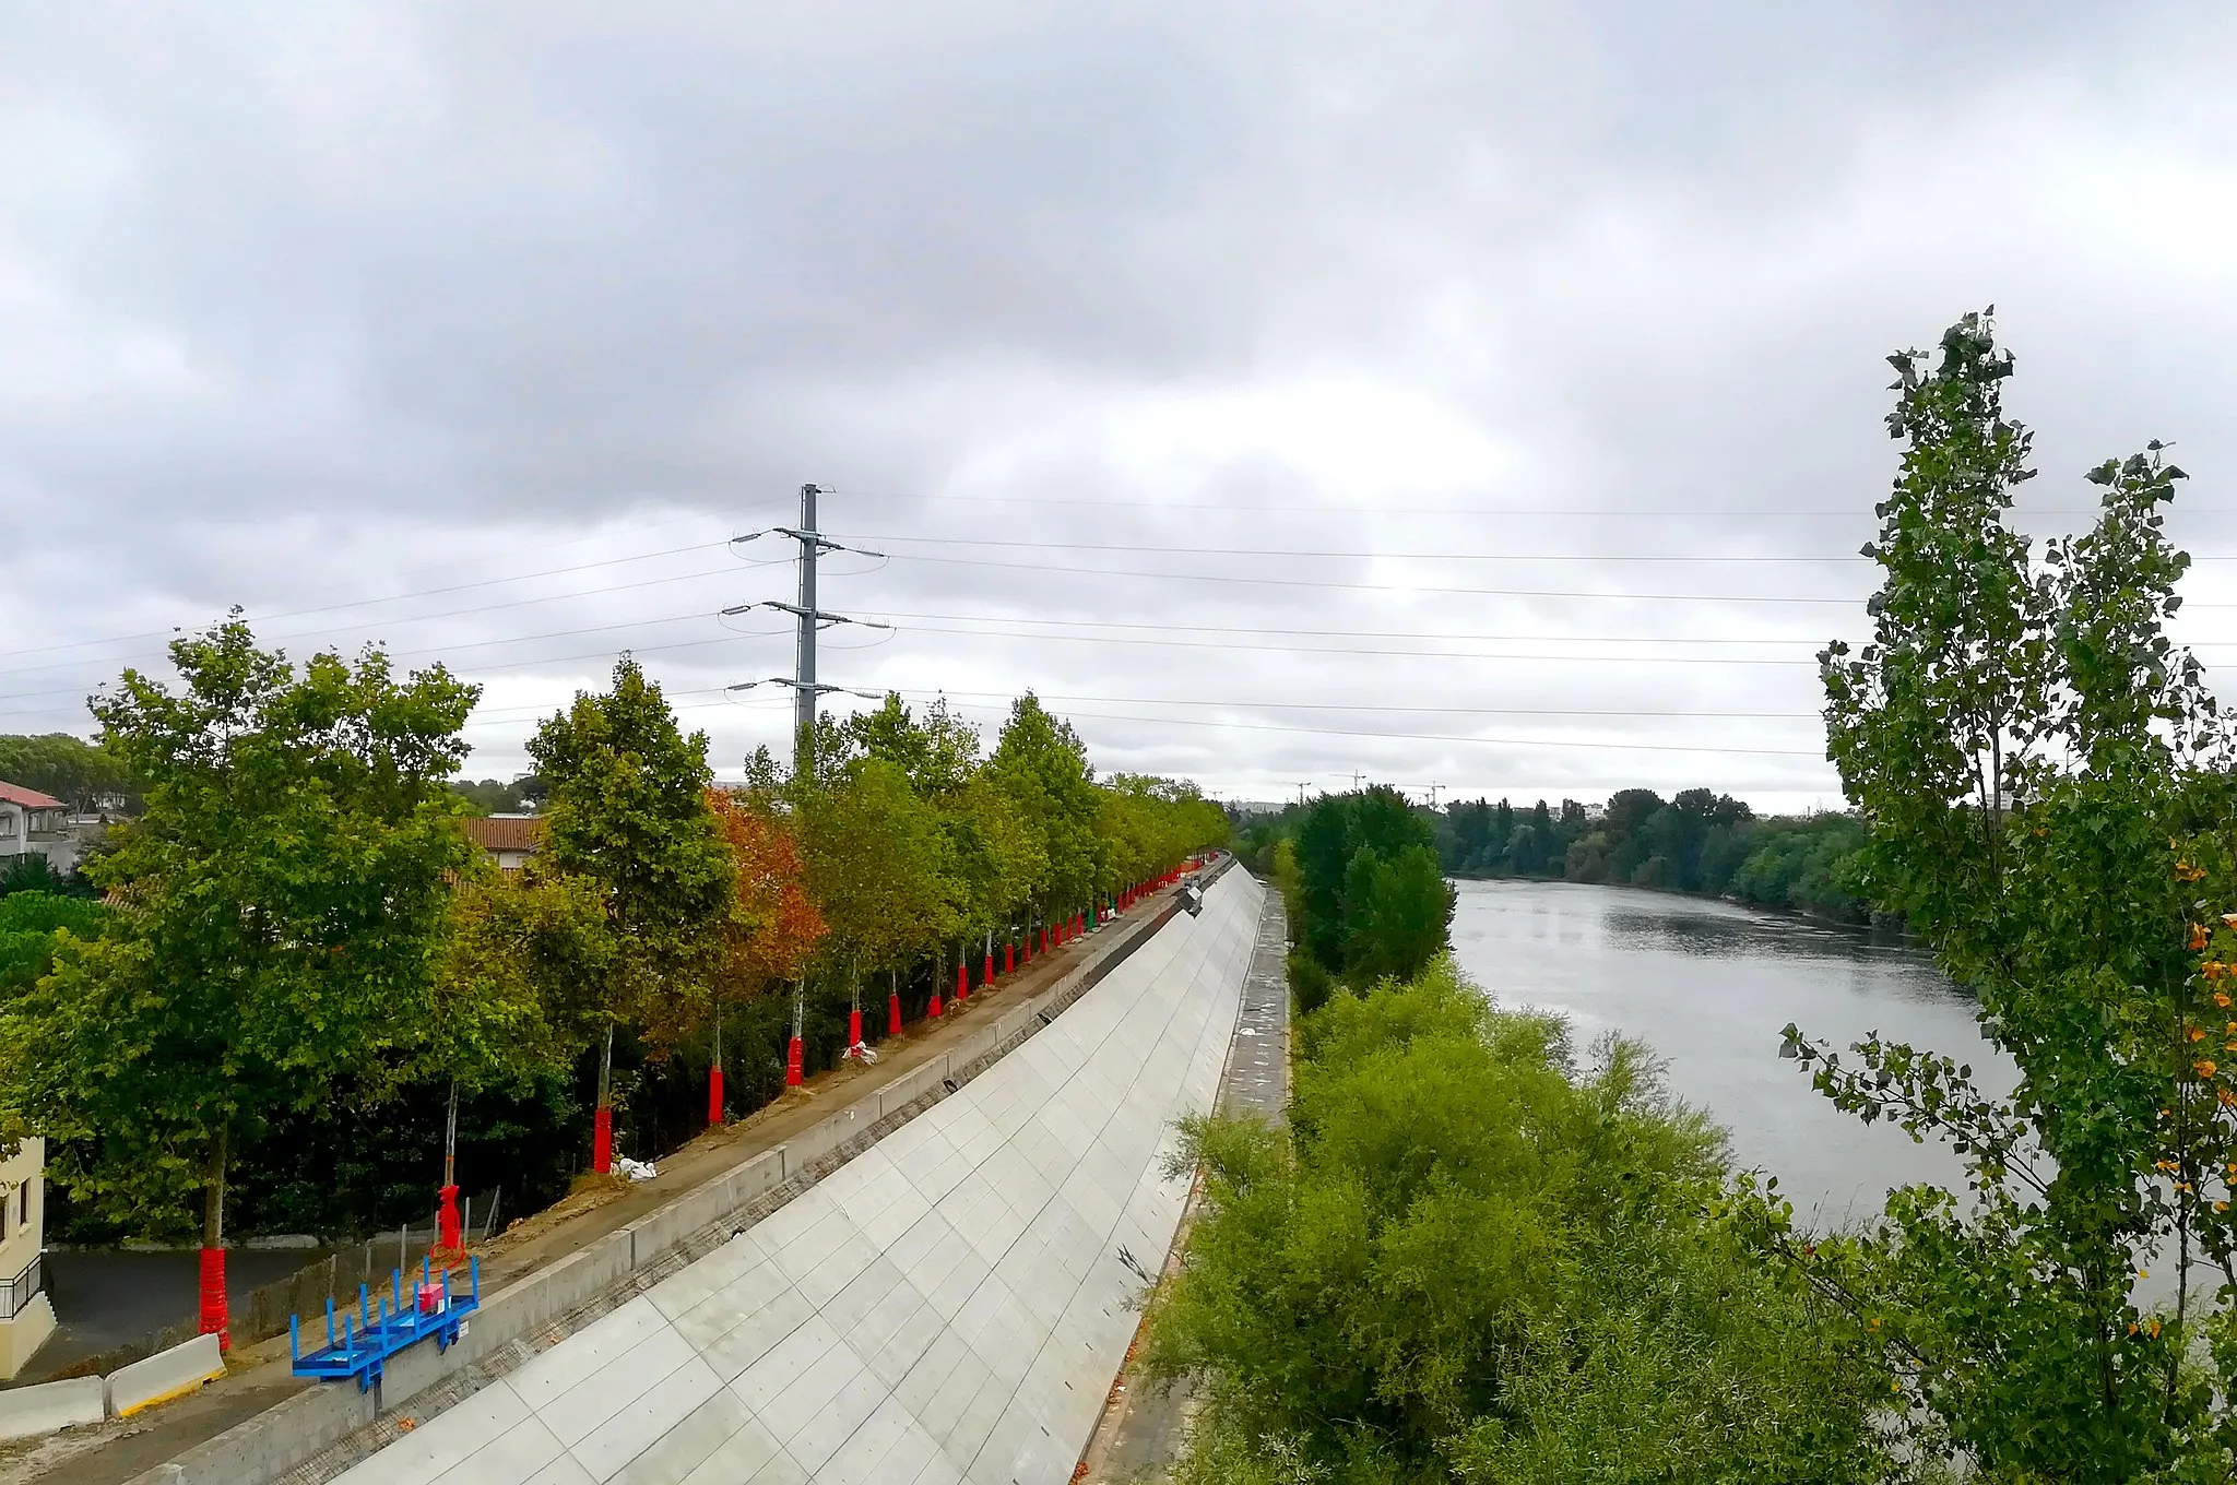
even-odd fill
[[[1228,868],[1221,861],[1208,877]],[[492,1358],[497,1351],[586,1311],[649,1266],[671,1259],[693,1246],[714,1246],[729,1237],[725,1223],[736,1223],[756,1201],[787,1183],[812,1176],[810,1165],[834,1158],[848,1143],[863,1143],[872,1125],[899,1116],[908,1105],[948,1094],[948,1082],[964,1082],[998,1053],[1040,1031],[1058,1011],[1085,995],[1136,948],[1152,942],[1179,906],[1168,901],[1089,939],[1089,957],[1047,991],[1000,1015],[991,1027],[964,1040],[951,1053],[910,1069],[893,1085],[866,1094],[834,1112],[812,1129],[776,1150],[743,1161],[727,1174],[678,1196],[660,1212],[613,1232],[582,1252],[541,1268],[517,1284],[490,1293],[468,1322],[465,1335],[450,1351],[414,1346],[389,1360],[380,1387],[358,1393],[356,1387],[318,1387],[242,1422],[217,1438],[197,1445],[130,1485],[259,1485],[333,1449],[383,1413],[407,1404],[430,1387]],[[709,1235],[709,1230],[714,1230]],[[640,1284],[646,1279],[640,1279]]]

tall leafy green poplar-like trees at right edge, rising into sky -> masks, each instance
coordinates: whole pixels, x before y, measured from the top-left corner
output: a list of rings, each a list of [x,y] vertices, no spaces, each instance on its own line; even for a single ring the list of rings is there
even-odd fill
[[[1975,1478],[2228,1478],[2237,937],[2212,912],[2237,901],[2237,810],[2215,700],[2165,637],[2183,474],[2159,445],[2101,465],[2096,528],[2036,564],[2007,526],[2029,434],[1989,318],[1893,362],[1901,472],[1866,548],[1884,581],[1870,644],[1823,655],[1828,751],[1870,830],[1863,890],[1980,997],[2020,1078],[1991,1098],[1931,1051],[1787,1027],[1839,1107],[1969,1167],[1964,1192],[1890,1192],[1877,1228],[1796,1264],[1886,1346],[1897,1422]],[[1783,1210],[1761,1217],[1794,1252]],[[2156,1255],[2165,1315],[2132,1288]],[[2212,1297],[2201,1264],[2228,1281]]]

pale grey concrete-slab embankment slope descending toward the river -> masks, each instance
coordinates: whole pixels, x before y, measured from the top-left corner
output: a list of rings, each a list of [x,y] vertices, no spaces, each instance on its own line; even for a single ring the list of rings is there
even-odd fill
[[[1040,1035],[347,1485],[1058,1485],[1165,1255],[1262,888],[1228,872]]]

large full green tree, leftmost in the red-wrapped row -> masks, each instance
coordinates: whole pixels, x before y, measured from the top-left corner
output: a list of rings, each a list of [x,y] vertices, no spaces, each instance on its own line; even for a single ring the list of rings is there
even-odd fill
[[[472,861],[443,781],[476,689],[441,666],[396,680],[378,649],[298,673],[239,617],[170,658],[179,691],[125,671],[94,702],[148,812],[94,863],[107,933],[60,939],[0,1013],[0,1100],[49,1136],[74,1201],[170,1232],[199,1192],[219,1252],[242,1143],[409,1060],[443,881]]]

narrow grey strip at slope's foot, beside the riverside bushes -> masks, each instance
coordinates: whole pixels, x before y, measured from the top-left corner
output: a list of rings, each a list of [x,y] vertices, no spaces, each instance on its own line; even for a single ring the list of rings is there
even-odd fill
[[[1259,908],[1259,937],[1250,950],[1250,973],[1244,977],[1244,1006],[1235,1018],[1235,1040],[1228,1044],[1228,1067],[1219,1076],[1219,1107],[1224,1112],[1248,1109],[1271,1123],[1282,1123],[1289,1105],[1289,917],[1282,912],[1282,895],[1268,886],[1266,904]],[[1188,1232],[1195,1226],[1197,1203],[1204,1196],[1204,1179],[1188,1194],[1181,1226],[1172,1235],[1172,1250],[1165,1255],[1163,1273],[1181,1266],[1188,1250]],[[1143,1322],[1143,1326],[1148,1320]],[[1112,1382],[1078,1467],[1076,1483],[1118,1481],[1165,1481],[1172,1463],[1188,1440],[1190,1387],[1150,1387],[1136,1380],[1134,1358],[1141,1353],[1145,1331],[1134,1328],[1134,1344],[1127,1346],[1125,1364]]]

